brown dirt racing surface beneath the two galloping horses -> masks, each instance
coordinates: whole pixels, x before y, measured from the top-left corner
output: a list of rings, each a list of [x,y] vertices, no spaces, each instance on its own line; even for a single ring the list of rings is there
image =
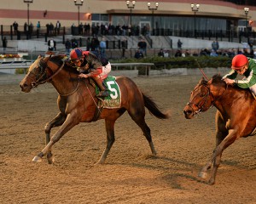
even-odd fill
[[[183,116],[200,78],[133,78],[160,110],[172,111],[171,119],[147,111],[158,152],[151,156],[141,129],[125,113],[103,165],[95,165],[106,144],[103,120],[66,133],[53,147],[53,165],[45,157],[32,162],[44,149],[45,123],[58,113],[55,88],[44,84],[25,94],[18,83],[0,85],[0,203],[256,203],[256,137],[224,150],[215,185],[197,177],[215,146],[214,107],[192,120]]]

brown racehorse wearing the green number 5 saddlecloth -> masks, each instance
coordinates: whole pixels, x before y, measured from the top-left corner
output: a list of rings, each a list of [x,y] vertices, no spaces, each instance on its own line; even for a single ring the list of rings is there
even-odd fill
[[[47,155],[49,163],[52,163],[54,157],[51,148],[67,131],[78,125],[79,122],[105,119],[108,142],[98,161],[98,163],[103,163],[114,142],[114,123],[125,111],[128,111],[131,119],[143,130],[152,154],[156,155],[150,129],[144,119],[145,107],[148,108],[151,114],[160,119],[166,119],[169,115],[162,113],[154,101],[143,94],[130,78],[116,77],[116,82],[119,84],[122,94],[120,107],[115,109],[104,108],[100,111],[100,116],[95,118],[95,113],[99,109],[97,106],[99,99],[96,98],[95,88],[90,85],[88,79],[80,79],[78,75],[79,71],[68,63],[64,63],[61,55],[45,58],[38,56],[38,59],[29,67],[26,77],[20,82],[21,90],[26,93],[39,84],[50,82],[59,94],[57,102],[60,112],[45,125],[46,146],[32,161],[41,161],[41,158]],[[50,138],[51,128],[58,126],[61,127]]]

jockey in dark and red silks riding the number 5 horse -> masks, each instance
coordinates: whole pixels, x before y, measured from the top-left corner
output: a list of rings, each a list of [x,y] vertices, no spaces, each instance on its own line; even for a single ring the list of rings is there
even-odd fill
[[[79,67],[80,78],[92,77],[97,86],[101,89],[98,97],[106,97],[109,95],[108,90],[103,85],[103,80],[108,77],[108,73],[111,71],[111,65],[107,62],[105,66],[102,65],[101,59],[90,51],[82,51],[80,48],[74,48],[71,50],[70,61],[76,67]],[[108,60],[108,59],[107,59]],[[84,74],[86,72],[87,74]]]

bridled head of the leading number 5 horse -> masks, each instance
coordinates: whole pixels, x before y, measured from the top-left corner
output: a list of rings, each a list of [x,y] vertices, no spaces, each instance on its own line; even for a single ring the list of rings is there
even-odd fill
[[[55,60],[55,59],[59,60]],[[37,87],[39,84],[49,82],[49,80],[55,75],[58,69],[60,69],[64,62],[63,57],[54,56],[51,58],[43,58],[41,55],[38,56],[32,65],[30,65],[26,76],[20,82],[20,88],[23,92],[30,92],[32,88]],[[62,66],[61,66],[62,65]]]

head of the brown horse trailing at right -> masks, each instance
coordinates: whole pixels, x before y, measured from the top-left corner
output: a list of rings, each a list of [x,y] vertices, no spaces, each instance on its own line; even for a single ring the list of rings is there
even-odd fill
[[[203,77],[191,92],[189,103],[184,107],[183,113],[187,119],[191,119],[195,114],[207,111],[212,106],[214,96],[211,92],[212,79],[206,81]]]

